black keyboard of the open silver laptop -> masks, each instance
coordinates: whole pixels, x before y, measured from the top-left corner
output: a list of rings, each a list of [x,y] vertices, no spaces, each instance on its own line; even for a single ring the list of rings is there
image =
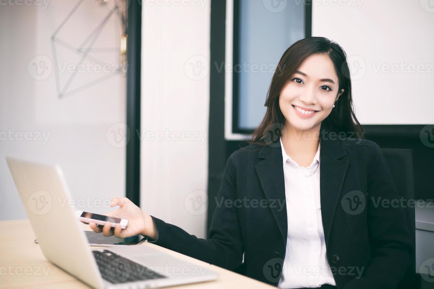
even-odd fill
[[[167,278],[154,270],[126,259],[110,250],[92,251],[103,279],[110,283],[126,283]]]

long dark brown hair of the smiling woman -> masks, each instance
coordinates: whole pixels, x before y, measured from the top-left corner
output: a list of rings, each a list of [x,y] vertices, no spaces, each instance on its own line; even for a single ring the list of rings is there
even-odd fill
[[[345,51],[339,44],[325,37],[308,37],[289,46],[280,58],[264,104],[267,107],[265,116],[254,131],[250,144],[263,145],[263,139],[270,130],[275,130],[276,125],[282,127],[285,125],[285,117],[279,107],[280,92],[304,60],[314,54],[324,54],[330,57],[339,78],[338,93],[342,88],[344,89],[339,101],[335,102],[335,107],[323,122],[336,133],[343,132],[347,136],[351,133],[351,137],[363,138],[363,128],[354,114],[350,71]],[[279,134],[278,130],[277,134]]]

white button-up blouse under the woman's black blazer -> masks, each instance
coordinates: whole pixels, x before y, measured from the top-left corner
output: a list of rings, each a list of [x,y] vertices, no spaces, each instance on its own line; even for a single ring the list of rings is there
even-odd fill
[[[283,148],[288,235],[279,288],[336,286],[325,254],[319,199],[319,152],[306,168],[299,166]]]

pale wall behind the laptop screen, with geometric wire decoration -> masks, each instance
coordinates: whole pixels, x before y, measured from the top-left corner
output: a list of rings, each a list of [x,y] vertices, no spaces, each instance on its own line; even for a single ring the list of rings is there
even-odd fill
[[[125,195],[125,147],[112,146],[116,144],[110,139],[110,130],[106,138],[114,123],[125,123],[125,78],[115,75],[60,99],[50,37],[77,1],[51,0],[45,8],[11,2],[15,4],[3,1],[7,4],[0,6],[0,220],[27,218],[5,156],[59,164],[73,201],[79,202],[72,207],[105,212],[108,208],[102,204],[107,199]],[[73,45],[109,13],[95,1],[84,4],[58,34]],[[109,22],[94,47],[119,46],[119,32],[116,23]],[[56,50],[62,65],[74,64],[73,53],[60,46]],[[99,53],[91,55],[97,57]],[[49,69],[38,77],[33,63],[42,65],[40,60],[45,60],[44,67],[51,73]],[[114,64],[118,52],[106,53],[101,60]],[[69,75],[60,73],[61,83]],[[79,73],[71,88],[100,76],[104,75],[86,70]],[[27,139],[31,140],[20,135],[26,132],[30,132]],[[47,139],[38,133],[44,133]]]

